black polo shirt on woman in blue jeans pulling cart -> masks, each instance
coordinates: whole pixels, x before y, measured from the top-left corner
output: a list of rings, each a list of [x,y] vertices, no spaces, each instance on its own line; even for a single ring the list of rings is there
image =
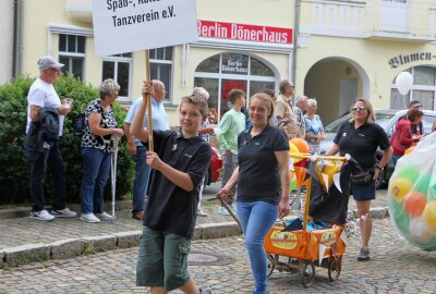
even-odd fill
[[[238,136],[238,201],[278,204],[281,198],[281,181],[274,152],[289,150],[288,139],[277,127],[267,126],[253,138],[251,130]]]

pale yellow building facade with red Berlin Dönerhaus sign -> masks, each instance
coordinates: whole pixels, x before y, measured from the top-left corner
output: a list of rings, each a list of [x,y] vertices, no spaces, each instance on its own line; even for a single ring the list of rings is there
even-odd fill
[[[117,79],[122,102],[140,97],[145,54],[95,56],[92,0],[19,2],[20,72],[36,76],[37,59],[49,54],[96,86]],[[249,96],[265,87],[278,91],[281,79],[294,81],[296,95],[316,97],[325,123],[347,112],[355,97],[370,98],[376,108],[401,109],[417,99],[435,109],[435,1],[197,0],[196,5],[198,41],[150,50],[152,77],[166,84],[171,125],[178,124],[180,98],[194,86],[210,93],[218,122],[231,88]],[[414,77],[405,96],[395,85],[402,71]]]

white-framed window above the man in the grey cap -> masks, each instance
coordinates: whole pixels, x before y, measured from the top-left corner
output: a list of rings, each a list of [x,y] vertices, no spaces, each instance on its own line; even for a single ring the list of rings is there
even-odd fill
[[[65,64],[62,72],[72,73],[82,81],[85,72],[85,36],[59,35],[59,62]]]

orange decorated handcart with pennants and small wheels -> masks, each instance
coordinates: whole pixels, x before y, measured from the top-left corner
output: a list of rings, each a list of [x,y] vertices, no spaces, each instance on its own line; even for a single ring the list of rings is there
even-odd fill
[[[348,158],[301,154],[291,154],[291,158],[294,171],[304,170],[305,173],[304,212],[299,225],[294,225],[294,219],[291,224],[272,226],[266,235],[268,277],[274,270],[298,272],[303,285],[310,286],[315,279],[315,267],[320,267],[328,270],[328,278],[334,281],[340,275],[347,247],[343,225],[349,177],[343,163]],[[340,211],[335,211],[337,209]],[[328,228],[317,229],[311,224],[318,221]]]

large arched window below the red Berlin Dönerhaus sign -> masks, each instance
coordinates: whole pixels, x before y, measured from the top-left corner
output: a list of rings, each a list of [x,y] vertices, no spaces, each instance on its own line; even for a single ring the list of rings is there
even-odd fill
[[[229,91],[242,89],[246,97],[264,88],[277,89],[274,71],[261,60],[241,53],[220,53],[202,61],[195,70],[194,86],[209,93],[209,121],[219,123],[231,108]],[[249,103],[249,99],[246,99]]]

